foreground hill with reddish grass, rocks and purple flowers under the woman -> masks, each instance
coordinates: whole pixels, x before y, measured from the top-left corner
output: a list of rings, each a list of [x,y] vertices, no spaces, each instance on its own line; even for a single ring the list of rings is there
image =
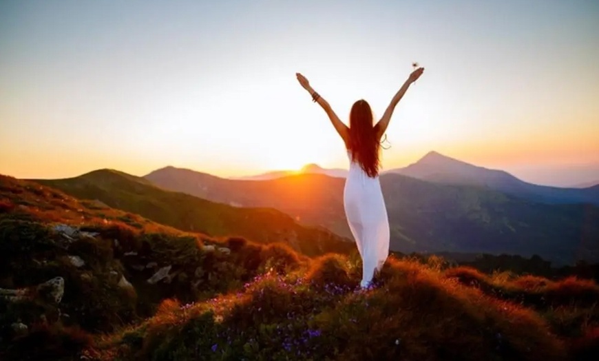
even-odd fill
[[[56,223],[96,233],[65,238]],[[54,277],[61,300],[28,291]],[[3,360],[547,361],[599,352],[590,280],[486,275],[437,257],[392,257],[370,290],[357,289],[360,277],[355,256],[308,258],[286,245],[191,234],[0,177]]]

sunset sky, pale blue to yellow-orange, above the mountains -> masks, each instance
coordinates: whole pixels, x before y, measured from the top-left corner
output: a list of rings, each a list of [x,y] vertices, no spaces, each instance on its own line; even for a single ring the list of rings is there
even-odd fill
[[[0,174],[244,176],[348,166],[347,121],[397,106],[383,169],[431,150],[541,184],[599,180],[599,2],[0,1]]]

